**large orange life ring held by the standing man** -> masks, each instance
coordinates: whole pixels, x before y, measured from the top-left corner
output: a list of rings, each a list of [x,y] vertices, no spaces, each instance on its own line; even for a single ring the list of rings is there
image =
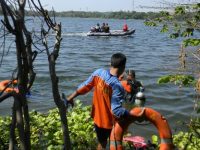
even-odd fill
[[[160,136],[160,150],[173,150],[172,133],[167,120],[151,108],[135,107],[130,111],[134,120],[116,122],[110,135],[110,150],[123,150],[122,139],[124,131],[134,121],[148,120],[155,125]]]

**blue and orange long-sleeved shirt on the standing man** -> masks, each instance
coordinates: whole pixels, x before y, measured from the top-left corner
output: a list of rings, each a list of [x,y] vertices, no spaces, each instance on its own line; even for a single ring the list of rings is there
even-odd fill
[[[94,123],[101,128],[111,129],[113,115],[123,117],[128,111],[122,107],[124,88],[117,76],[109,70],[98,69],[77,89],[79,94],[85,94],[94,89],[92,102],[92,117]]]

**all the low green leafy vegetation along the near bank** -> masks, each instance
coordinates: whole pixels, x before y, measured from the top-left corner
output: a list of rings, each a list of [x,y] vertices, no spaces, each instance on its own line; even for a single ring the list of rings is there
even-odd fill
[[[91,106],[82,106],[79,100],[76,100],[75,107],[68,111],[67,119],[73,149],[89,150],[95,149],[97,145],[90,113]],[[0,149],[8,149],[10,123],[11,117],[0,117]],[[30,112],[30,125],[32,149],[63,149],[61,122],[57,108],[50,110],[47,114]],[[200,138],[196,136],[200,134],[200,131],[194,130],[197,126],[199,126],[198,122],[193,122],[188,132],[181,131],[175,134],[173,136],[175,146],[179,149],[197,150],[200,147]],[[16,139],[19,140],[18,134]],[[159,147],[159,138],[156,135],[153,135],[150,141]],[[20,147],[19,144],[17,146]],[[124,146],[128,149],[128,144],[124,143]]]

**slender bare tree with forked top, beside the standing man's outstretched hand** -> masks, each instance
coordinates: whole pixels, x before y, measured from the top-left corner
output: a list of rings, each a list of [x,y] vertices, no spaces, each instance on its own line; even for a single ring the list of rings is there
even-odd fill
[[[40,7],[42,7],[41,4],[40,4]],[[58,88],[59,79],[58,79],[58,77],[56,75],[56,71],[55,71],[56,70],[55,64],[56,64],[56,60],[59,55],[60,42],[62,40],[61,24],[54,23],[51,20],[51,18],[49,17],[48,12],[45,11],[43,8],[38,9],[38,10],[42,11],[44,20],[48,25],[48,30],[46,31],[44,28],[42,28],[41,34],[43,37],[43,45],[46,49],[48,61],[49,61],[49,72],[50,72],[50,77],[51,77],[51,81],[52,81],[52,92],[53,92],[54,102],[58,107],[59,114],[61,117],[63,138],[64,138],[64,149],[71,150],[69,129],[68,129],[68,123],[67,123],[67,118],[66,118],[66,113],[67,113],[66,107],[64,105],[64,102],[61,100],[61,96],[59,94],[59,88]],[[54,46],[52,52],[50,52],[49,47],[48,47],[48,42],[47,42],[48,32],[50,31],[50,29],[54,30],[56,33],[56,42],[55,42],[55,46]]]

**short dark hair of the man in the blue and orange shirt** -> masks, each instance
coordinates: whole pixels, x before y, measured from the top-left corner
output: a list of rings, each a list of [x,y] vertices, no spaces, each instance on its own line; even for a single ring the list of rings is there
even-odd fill
[[[111,57],[111,66],[114,68],[125,67],[126,56],[122,53],[115,53]]]

